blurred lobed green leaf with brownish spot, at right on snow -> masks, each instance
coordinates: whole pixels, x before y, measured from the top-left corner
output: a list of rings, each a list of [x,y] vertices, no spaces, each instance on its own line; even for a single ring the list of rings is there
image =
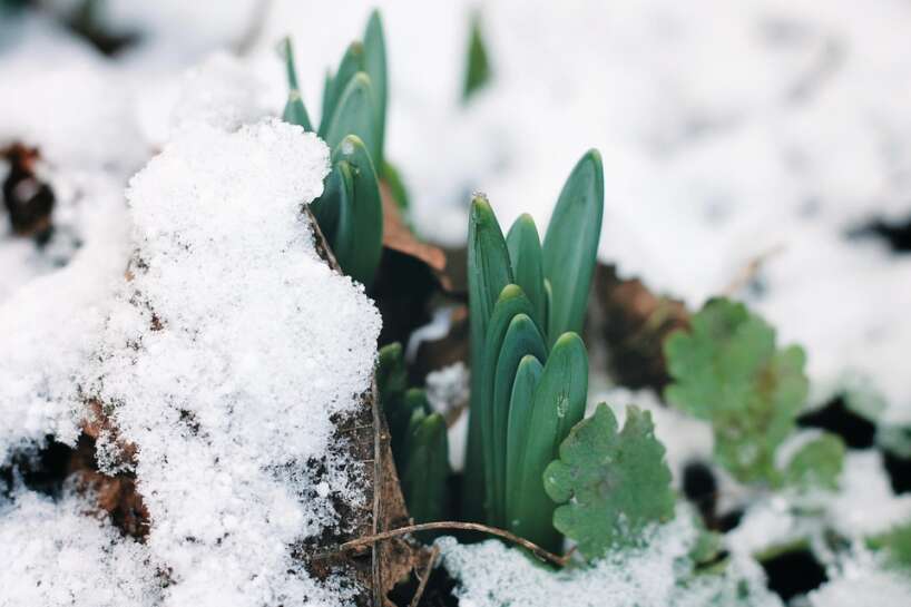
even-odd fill
[[[743,304],[709,301],[692,330],[665,342],[668,402],[712,422],[715,456],[744,482],[781,482],[775,450],[806,399],[803,350],[778,350],[775,331]]]

